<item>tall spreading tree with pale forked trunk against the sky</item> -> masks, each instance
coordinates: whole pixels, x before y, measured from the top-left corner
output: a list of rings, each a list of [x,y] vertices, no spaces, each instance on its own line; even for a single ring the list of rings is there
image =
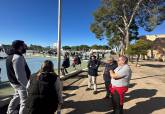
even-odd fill
[[[130,44],[131,25],[152,31],[165,19],[164,0],[102,0],[102,5],[93,14],[90,30],[96,38],[117,36],[122,49]],[[134,27],[135,27],[134,26]],[[133,27],[133,30],[135,28]]]

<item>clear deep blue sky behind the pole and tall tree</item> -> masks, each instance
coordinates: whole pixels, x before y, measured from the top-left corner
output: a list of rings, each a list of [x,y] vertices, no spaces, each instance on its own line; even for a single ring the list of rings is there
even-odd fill
[[[90,32],[92,13],[100,0],[62,0],[62,45],[105,45]],[[0,44],[24,40],[28,45],[51,46],[57,42],[58,0],[0,0]],[[165,34],[165,23],[152,32]]]

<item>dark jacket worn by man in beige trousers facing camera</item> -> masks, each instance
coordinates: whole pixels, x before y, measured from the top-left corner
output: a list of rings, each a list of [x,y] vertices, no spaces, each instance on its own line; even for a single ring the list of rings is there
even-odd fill
[[[88,62],[88,74],[90,76],[98,76],[98,67],[99,61],[98,60],[90,60]]]

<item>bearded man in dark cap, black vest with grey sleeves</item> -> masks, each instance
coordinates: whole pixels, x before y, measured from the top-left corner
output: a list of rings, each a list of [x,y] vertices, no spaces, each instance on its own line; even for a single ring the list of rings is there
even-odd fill
[[[6,59],[7,76],[15,94],[11,99],[7,114],[18,113],[17,107],[20,104],[19,114],[26,114],[25,102],[27,99],[26,85],[31,72],[23,54],[26,53],[27,46],[24,41],[15,40],[12,48],[7,52]]]

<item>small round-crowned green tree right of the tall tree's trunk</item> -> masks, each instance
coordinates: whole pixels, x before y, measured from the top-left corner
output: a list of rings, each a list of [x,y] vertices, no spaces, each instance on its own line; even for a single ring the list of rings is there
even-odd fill
[[[137,55],[136,66],[138,64],[140,55],[145,56],[148,50],[152,48],[153,42],[146,39],[139,39],[135,44],[129,45],[126,53],[130,56]]]

